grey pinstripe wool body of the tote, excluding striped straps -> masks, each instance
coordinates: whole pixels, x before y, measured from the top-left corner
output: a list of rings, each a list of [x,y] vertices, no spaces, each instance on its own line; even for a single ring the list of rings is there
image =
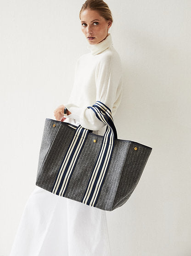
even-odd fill
[[[45,120],[39,153],[37,186],[52,192],[63,158],[77,128],[65,122]],[[83,202],[102,140],[103,136],[88,133],[67,189],[62,196]],[[111,161],[94,207],[112,211],[122,206],[138,184],[151,151],[152,148],[140,143],[114,139]]]

